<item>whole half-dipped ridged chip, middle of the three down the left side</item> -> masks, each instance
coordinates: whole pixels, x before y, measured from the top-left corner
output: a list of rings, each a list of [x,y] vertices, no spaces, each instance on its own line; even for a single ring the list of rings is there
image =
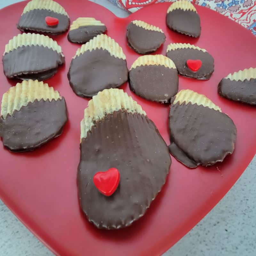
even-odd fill
[[[5,45],[4,74],[22,80],[46,80],[65,62],[60,45],[49,36],[23,33]]]

